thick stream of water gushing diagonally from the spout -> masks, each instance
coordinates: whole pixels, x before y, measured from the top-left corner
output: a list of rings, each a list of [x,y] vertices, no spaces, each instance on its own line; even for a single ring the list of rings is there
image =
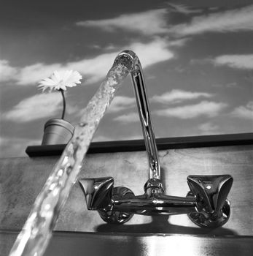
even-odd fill
[[[52,170],[42,191],[36,197],[23,230],[17,236],[9,256],[43,255],[52,236],[58,215],[77,179],[99,121],[109,107],[120,83],[131,71],[129,59],[117,56],[96,94],[83,110],[73,138]]]

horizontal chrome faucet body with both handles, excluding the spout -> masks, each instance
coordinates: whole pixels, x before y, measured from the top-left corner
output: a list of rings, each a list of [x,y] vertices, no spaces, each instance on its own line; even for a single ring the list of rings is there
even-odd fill
[[[186,197],[164,195],[163,189],[157,186],[146,187],[143,195],[135,196],[131,189],[114,187],[112,177],[82,178],[79,184],[88,210],[98,211],[105,222],[125,223],[133,214],[187,214],[201,227],[224,225],[230,217],[227,194],[233,178],[230,175],[188,176],[187,181],[190,192]]]

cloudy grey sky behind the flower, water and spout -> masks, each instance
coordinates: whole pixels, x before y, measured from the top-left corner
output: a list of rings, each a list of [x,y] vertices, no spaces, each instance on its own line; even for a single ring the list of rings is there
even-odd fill
[[[122,50],[141,61],[156,138],[253,132],[252,1],[6,1],[0,9],[0,157],[26,156],[61,118],[58,91],[37,89],[77,70],[66,121],[78,123]],[[142,138],[128,77],[93,141]]]

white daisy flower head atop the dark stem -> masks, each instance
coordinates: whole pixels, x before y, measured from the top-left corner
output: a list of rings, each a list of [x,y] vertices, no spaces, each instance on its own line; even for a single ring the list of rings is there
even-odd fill
[[[82,75],[77,71],[66,70],[66,71],[56,71],[52,73],[50,78],[44,78],[39,82],[39,89],[42,91],[49,89],[63,90],[66,91],[66,87],[77,86],[77,83],[81,83]]]

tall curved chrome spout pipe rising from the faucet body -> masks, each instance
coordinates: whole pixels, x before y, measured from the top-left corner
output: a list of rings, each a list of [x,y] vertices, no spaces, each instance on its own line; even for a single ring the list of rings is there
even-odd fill
[[[132,50],[123,50],[116,57],[114,64],[124,64],[131,72],[133,89],[136,96],[136,104],[141,121],[141,129],[144,136],[144,143],[149,159],[149,178],[160,180],[160,162],[155,143],[155,133],[152,127],[152,121],[149,111],[149,102],[147,89],[145,86],[144,75],[141,68],[141,62],[138,56]]]

